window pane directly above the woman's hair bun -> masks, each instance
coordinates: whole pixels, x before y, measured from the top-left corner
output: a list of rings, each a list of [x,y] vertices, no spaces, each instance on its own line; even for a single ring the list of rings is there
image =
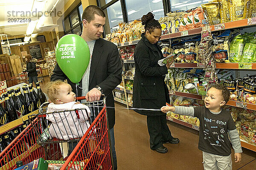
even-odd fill
[[[128,20],[140,19],[148,12],[153,12],[155,19],[164,16],[163,0],[125,0]]]

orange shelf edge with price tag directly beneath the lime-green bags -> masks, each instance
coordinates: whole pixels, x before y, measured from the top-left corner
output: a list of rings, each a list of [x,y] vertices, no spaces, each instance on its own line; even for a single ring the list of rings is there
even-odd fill
[[[216,69],[256,69],[256,63],[216,63]]]

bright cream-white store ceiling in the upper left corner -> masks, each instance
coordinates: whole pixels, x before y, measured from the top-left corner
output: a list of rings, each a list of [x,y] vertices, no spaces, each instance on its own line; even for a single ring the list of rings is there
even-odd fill
[[[43,12],[50,12],[56,5],[64,6],[64,0],[0,0],[0,34],[25,35],[29,23],[37,22]]]

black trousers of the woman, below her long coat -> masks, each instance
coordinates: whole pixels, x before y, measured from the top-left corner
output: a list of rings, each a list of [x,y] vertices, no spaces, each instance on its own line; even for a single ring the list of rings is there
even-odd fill
[[[156,150],[163,142],[172,140],[172,134],[167,126],[166,115],[147,116],[150,148]]]

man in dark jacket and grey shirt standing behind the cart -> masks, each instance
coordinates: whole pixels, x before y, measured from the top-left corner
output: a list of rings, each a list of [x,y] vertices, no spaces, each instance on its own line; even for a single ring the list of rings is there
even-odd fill
[[[84,73],[79,87],[72,83],[61,71],[58,64],[55,66],[51,81],[67,79],[77,96],[86,96],[87,101],[99,100],[101,94],[105,94],[108,122],[111,137],[111,149],[113,155],[113,167],[116,170],[116,151],[113,127],[115,124],[115,109],[113,89],[122,81],[122,65],[119,59],[117,46],[100,38],[105,25],[105,14],[97,6],[87,6],[84,9],[83,31],[81,37],[87,42],[90,49],[90,62]],[[76,91],[77,90],[77,91]],[[83,101],[82,101],[83,102]]]

